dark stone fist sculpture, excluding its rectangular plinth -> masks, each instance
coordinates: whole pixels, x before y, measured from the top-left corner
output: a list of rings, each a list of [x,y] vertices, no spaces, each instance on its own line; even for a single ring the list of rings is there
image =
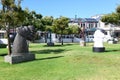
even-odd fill
[[[17,35],[15,37],[12,49],[12,55],[25,55],[29,53],[27,40],[34,38],[34,27],[25,26],[17,29]]]

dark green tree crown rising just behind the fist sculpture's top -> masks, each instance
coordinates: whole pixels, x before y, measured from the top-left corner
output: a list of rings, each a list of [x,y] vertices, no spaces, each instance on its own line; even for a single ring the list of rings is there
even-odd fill
[[[24,10],[24,15],[26,16],[23,25],[33,25],[36,30],[45,30],[42,23],[42,15],[37,14],[35,11],[29,11],[29,9]]]

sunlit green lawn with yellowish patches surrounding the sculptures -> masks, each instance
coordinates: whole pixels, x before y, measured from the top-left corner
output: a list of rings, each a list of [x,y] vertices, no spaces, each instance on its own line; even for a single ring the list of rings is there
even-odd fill
[[[92,44],[30,44],[36,60],[11,65],[0,48],[0,80],[120,80],[120,44],[105,44],[106,52],[93,53]]]

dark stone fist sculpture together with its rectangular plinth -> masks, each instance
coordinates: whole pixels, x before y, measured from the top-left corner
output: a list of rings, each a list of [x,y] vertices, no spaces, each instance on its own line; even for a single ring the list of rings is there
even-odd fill
[[[17,28],[17,35],[13,42],[12,54],[5,56],[5,62],[11,64],[35,59],[34,54],[29,53],[27,40],[34,39],[35,28],[33,26],[24,26]]]

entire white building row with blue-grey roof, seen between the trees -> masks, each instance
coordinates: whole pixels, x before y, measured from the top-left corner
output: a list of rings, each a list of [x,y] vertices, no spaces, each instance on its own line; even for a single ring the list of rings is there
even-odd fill
[[[112,25],[112,24],[108,24],[106,25],[105,23],[103,23],[100,19],[103,15],[95,15],[92,16],[91,18],[70,18],[69,21],[69,26],[70,25],[74,25],[74,26],[78,26],[80,28],[85,28],[85,37],[86,37],[86,42],[91,42],[93,41],[93,34],[95,32],[95,30],[97,28],[103,29],[106,32],[106,36],[105,36],[105,41],[108,41],[109,39],[111,39],[113,37],[113,35],[115,35],[116,37],[120,36],[120,28],[118,26]],[[57,35],[53,36],[53,42],[60,42],[59,38],[60,36]],[[80,35],[78,35],[79,37],[74,37],[71,38],[68,35],[63,35],[63,42],[79,42],[80,41]],[[45,37],[43,36],[41,38],[42,41],[40,42],[49,42],[49,36],[47,38],[47,40],[45,39]]]

